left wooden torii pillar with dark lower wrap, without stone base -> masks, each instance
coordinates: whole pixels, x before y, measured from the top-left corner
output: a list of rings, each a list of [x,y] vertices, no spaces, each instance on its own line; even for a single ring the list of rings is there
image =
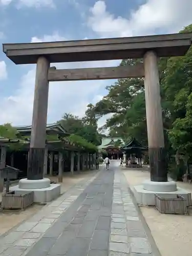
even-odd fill
[[[27,178],[29,180],[40,180],[44,175],[49,67],[50,62],[45,57],[40,56],[37,59],[33,119],[27,173]]]

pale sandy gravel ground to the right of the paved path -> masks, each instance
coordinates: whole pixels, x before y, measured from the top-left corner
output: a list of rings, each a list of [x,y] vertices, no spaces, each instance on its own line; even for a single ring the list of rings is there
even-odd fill
[[[150,178],[150,173],[122,168],[131,187]],[[192,193],[192,184],[177,182],[178,186]],[[189,216],[160,214],[154,207],[140,207],[152,236],[162,256],[191,256],[192,245],[192,208]]]

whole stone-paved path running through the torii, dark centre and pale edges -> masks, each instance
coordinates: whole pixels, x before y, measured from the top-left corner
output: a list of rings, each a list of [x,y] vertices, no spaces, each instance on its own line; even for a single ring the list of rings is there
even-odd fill
[[[110,165],[0,239],[0,255],[152,255],[124,175]]]

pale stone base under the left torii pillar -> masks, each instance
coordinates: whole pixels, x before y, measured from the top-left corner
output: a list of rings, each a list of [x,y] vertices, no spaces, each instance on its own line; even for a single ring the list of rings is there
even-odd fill
[[[50,179],[41,180],[22,179],[17,186],[10,187],[10,191],[19,194],[20,191],[34,191],[35,203],[46,203],[60,196],[60,185],[50,184]]]

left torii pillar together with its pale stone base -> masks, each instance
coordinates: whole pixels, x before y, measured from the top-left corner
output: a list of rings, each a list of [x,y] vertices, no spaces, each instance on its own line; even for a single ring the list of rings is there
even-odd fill
[[[34,191],[34,201],[42,203],[51,201],[60,195],[60,185],[50,184],[50,179],[44,178],[49,67],[50,62],[46,57],[38,57],[27,179],[20,180],[18,185],[18,190]]]

